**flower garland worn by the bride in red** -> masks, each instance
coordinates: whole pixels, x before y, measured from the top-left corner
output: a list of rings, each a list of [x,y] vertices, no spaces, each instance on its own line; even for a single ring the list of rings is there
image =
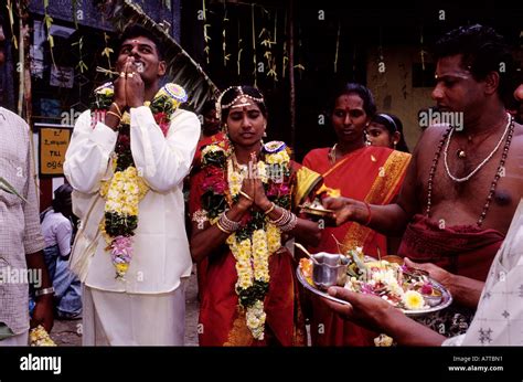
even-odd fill
[[[290,209],[291,190],[289,155],[284,142],[274,141],[263,147],[255,171],[264,183],[267,198],[275,204]],[[235,166],[234,153],[218,145],[202,150],[203,214],[215,224],[228,205],[237,202],[245,167]],[[202,215],[202,211],[195,214]],[[264,339],[266,314],[264,299],[269,289],[269,257],[281,247],[281,231],[260,211],[250,210],[241,221],[241,227],[232,233],[226,243],[236,259],[236,294],[238,304],[246,309],[246,323],[253,337]]]

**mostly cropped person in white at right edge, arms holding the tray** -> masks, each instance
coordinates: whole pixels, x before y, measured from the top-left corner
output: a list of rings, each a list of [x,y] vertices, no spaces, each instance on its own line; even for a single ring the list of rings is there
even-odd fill
[[[523,105],[523,84],[514,92],[514,97]],[[492,264],[487,283],[478,282],[476,290],[471,290],[476,304],[479,303],[478,311],[471,328],[463,336],[446,340],[439,333],[414,322],[383,299],[376,296],[355,294],[345,288],[332,287],[329,288],[329,294],[349,301],[349,306],[328,300],[325,303],[345,319],[355,321],[365,328],[385,332],[403,346],[521,346],[523,343],[523,330],[521,330],[523,308],[516,299],[523,275],[521,251],[523,246],[523,200],[520,202],[517,212],[512,220],[513,234],[512,236],[509,234],[508,242],[498,253],[498,258]],[[467,280],[462,276],[451,275],[433,264],[420,265],[408,261],[407,264],[429,272],[435,278],[455,278],[453,284],[467,283],[471,285],[470,283],[474,283],[474,280]],[[499,277],[502,272],[505,276]],[[483,298],[480,301],[481,293]],[[510,315],[500,319],[503,310],[510,311]],[[489,336],[483,336],[484,327],[489,328]]]

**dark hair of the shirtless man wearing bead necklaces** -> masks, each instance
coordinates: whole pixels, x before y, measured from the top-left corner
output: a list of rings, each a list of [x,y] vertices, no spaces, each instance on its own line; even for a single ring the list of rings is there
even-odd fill
[[[460,26],[448,32],[435,45],[436,60],[462,54],[461,64],[476,81],[491,72],[500,74],[498,94],[503,102],[514,92],[514,57],[503,36],[492,28],[480,24]]]

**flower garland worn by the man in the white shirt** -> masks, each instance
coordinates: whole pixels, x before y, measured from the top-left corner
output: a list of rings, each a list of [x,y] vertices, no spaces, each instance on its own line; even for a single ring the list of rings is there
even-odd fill
[[[113,104],[114,88],[111,83],[102,85],[95,91],[92,105],[93,127],[104,121],[105,114]],[[175,85],[167,84],[153,97],[146,102],[150,107],[154,121],[167,136],[171,118],[181,103],[186,100],[185,91]],[[116,269],[116,278],[125,280],[125,275],[132,258],[132,236],[138,226],[138,204],[149,191],[135,166],[130,148],[130,116],[125,112],[118,126],[118,139],[113,155],[113,178],[103,181],[100,195],[106,200],[105,219],[100,231],[107,243]]]

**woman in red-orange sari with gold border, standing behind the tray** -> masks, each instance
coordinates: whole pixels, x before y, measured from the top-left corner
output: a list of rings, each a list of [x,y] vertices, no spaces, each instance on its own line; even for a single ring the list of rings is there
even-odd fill
[[[366,204],[387,204],[398,193],[410,155],[385,147],[367,146],[365,127],[376,113],[371,92],[348,84],[335,94],[331,121],[338,136],[332,148],[311,150],[303,166],[319,172],[324,184],[342,197]],[[364,211],[369,214],[370,208]],[[369,214],[370,222],[372,219]],[[311,252],[340,253],[362,247],[365,255],[385,256],[387,237],[360,225],[345,223],[322,230],[321,242]],[[312,299],[311,338],[314,346],[373,346],[377,335],[348,323],[332,314],[317,296]]]

